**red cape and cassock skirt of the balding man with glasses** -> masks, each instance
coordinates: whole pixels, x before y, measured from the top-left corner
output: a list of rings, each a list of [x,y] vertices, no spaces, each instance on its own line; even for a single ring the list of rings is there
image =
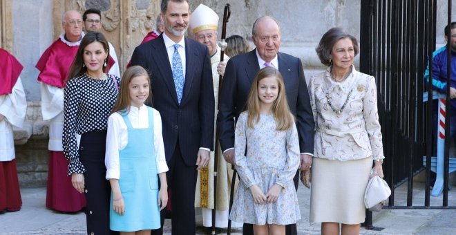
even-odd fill
[[[68,46],[61,39],[54,41],[37,63],[36,68],[40,71],[38,81],[64,88],[77,48],[78,46]],[[50,151],[46,207],[60,212],[78,212],[86,207],[86,198],[73,188],[67,170],[68,160],[64,152]]]

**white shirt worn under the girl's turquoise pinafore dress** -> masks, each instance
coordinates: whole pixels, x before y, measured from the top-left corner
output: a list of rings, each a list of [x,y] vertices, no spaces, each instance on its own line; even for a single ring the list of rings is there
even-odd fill
[[[140,108],[130,106],[127,114],[133,129],[149,128],[149,112],[145,105]],[[157,162],[157,172],[168,171],[167,160],[164,157],[164,146],[162,136],[162,118],[160,113],[153,109],[153,143],[155,146],[155,161]],[[106,135],[106,179],[120,178],[119,151],[124,149],[129,143],[128,129],[119,113],[113,113],[108,118],[108,133]]]

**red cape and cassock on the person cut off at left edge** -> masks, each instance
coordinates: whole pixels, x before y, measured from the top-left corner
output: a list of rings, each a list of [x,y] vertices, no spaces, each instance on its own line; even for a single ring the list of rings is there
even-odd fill
[[[0,95],[8,95],[12,92],[22,68],[15,57],[0,48]],[[0,161],[0,212],[18,211],[21,205],[16,160]]]

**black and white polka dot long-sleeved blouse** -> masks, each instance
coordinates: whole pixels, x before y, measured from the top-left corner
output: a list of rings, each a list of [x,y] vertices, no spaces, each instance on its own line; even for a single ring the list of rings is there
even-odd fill
[[[117,82],[117,86],[114,82]],[[70,161],[68,176],[86,171],[79,161],[76,134],[107,129],[108,116],[117,99],[119,86],[120,79],[115,75],[99,80],[84,74],[66,83],[62,141],[65,156]]]

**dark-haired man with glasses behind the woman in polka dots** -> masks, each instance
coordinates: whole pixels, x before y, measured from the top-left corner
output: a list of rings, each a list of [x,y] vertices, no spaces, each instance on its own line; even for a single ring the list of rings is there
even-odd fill
[[[102,12],[95,8],[87,9],[84,14],[82,14],[82,20],[84,21],[84,28],[86,32],[102,32]],[[110,73],[120,76],[119,60],[117,59],[117,54],[113,44],[108,41],[109,46],[109,61],[108,66],[106,67],[106,73]]]

